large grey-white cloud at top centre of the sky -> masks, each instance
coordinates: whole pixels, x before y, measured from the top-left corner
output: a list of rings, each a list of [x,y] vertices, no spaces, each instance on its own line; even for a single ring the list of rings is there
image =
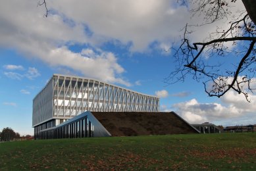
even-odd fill
[[[186,23],[189,12],[173,3],[176,2],[75,0],[49,1],[48,5],[75,23],[86,24],[93,44],[117,40],[124,45],[132,43],[132,51],[144,51],[155,41],[169,43]],[[76,10],[71,12],[71,6]]]

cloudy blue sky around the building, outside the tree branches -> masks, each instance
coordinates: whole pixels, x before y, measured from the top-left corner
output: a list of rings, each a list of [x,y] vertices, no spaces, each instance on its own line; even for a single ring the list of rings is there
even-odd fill
[[[170,47],[188,22],[200,22],[176,0],[9,0],[0,6],[0,129],[34,134],[32,100],[53,73],[96,78],[161,97],[162,111],[190,123],[256,124],[256,97],[230,91],[207,97],[203,85],[165,84],[174,69]],[[241,9],[240,2],[232,11]],[[225,27],[226,21],[217,25]],[[199,41],[215,26],[198,28]]]

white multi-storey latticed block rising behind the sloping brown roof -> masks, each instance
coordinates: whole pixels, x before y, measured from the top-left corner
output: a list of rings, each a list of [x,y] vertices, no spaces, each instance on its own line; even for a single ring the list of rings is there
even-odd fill
[[[35,139],[85,111],[158,112],[159,98],[78,76],[53,74],[33,100]]]

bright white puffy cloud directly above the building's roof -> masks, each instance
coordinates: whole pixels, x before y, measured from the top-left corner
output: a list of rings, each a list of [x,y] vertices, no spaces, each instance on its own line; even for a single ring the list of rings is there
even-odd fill
[[[47,62],[52,65],[68,66],[82,72],[84,76],[126,86],[131,85],[130,82],[120,77],[124,68],[117,63],[117,58],[113,53],[92,49],[82,49],[81,53],[73,53],[67,47],[61,47],[52,50],[48,57]]]

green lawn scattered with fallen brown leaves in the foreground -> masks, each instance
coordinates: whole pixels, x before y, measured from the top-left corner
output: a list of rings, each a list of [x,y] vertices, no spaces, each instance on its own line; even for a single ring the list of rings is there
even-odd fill
[[[256,134],[190,134],[0,143],[0,170],[255,170]]]

